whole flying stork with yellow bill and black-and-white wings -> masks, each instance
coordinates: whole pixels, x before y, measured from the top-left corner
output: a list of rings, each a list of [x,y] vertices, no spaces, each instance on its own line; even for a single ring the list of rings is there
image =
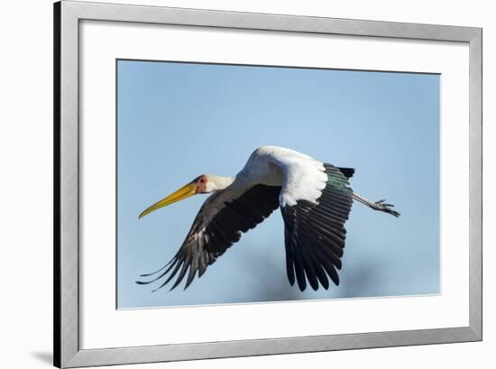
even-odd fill
[[[244,232],[280,208],[289,283],[294,285],[297,281],[299,290],[304,291],[308,281],[317,291],[319,283],[329,288],[329,277],[338,285],[336,270],[341,269],[344,222],[353,200],[400,216],[385,200],[372,202],[354,192],[349,184],[353,174],[354,169],[335,167],[300,152],[262,146],[234,177],[200,175],[140,214],[141,218],[192,195],[212,193],[200,208],[177,254],[158,271],[141,275],[153,277],[151,281],[137,283],[161,280],[169,273],[156,290],[177,275],[170,288],[173,290],[188,273],[184,287],[188,288],[196,273],[201,277]]]

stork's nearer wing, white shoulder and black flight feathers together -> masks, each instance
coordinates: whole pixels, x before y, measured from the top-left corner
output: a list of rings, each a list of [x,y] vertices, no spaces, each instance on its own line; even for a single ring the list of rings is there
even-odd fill
[[[348,178],[352,169],[342,171],[318,161],[279,161],[285,180],[281,189],[280,211],[284,219],[284,242],[289,283],[298,281],[299,289],[319,283],[329,288],[329,277],[339,284],[336,270],[341,269],[353,190]],[[304,176],[300,175],[302,167]],[[324,182],[323,179],[324,178]],[[316,194],[317,193],[317,194]]]

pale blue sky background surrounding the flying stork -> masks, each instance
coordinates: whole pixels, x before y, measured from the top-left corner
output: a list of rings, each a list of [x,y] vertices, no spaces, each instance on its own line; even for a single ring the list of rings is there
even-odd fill
[[[384,297],[439,292],[440,76],[118,61],[117,305]],[[355,168],[341,284],[300,292],[286,277],[279,211],[183,291],[135,283],[168,263],[205,200],[144,208],[202,173],[234,175],[262,145]]]

